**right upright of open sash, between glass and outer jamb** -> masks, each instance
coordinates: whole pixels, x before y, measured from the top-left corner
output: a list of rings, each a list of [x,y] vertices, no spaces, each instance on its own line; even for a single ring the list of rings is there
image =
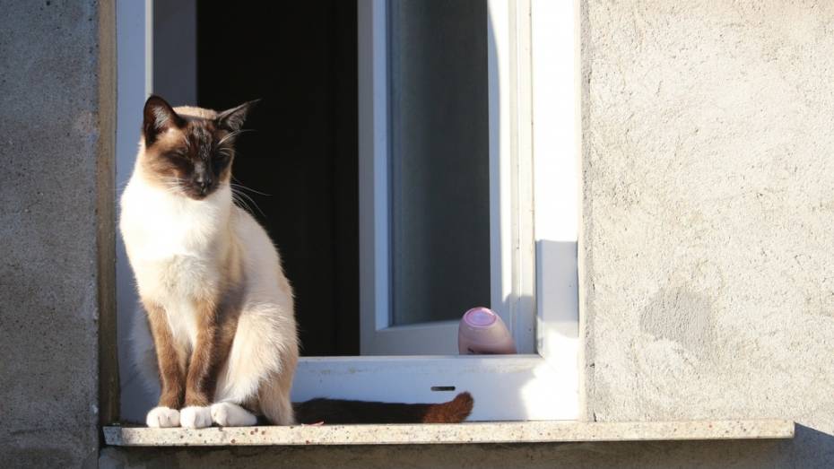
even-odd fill
[[[535,352],[530,3],[490,2],[492,308]]]

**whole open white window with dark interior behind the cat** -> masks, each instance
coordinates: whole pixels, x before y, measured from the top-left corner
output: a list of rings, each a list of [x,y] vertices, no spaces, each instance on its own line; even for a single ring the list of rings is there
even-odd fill
[[[119,1],[117,181],[148,93],[265,98],[235,173],[269,194],[247,193],[296,287],[293,400],[467,390],[471,420],[576,419],[574,18],[549,1]],[[124,364],[123,252],[117,284]],[[500,314],[519,354],[457,354],[474,306]],[[121,376],[122,414],[142,421],[154,397]]]

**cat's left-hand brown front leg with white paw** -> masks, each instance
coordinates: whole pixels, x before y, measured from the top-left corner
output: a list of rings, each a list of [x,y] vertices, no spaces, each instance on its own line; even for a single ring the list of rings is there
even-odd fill
[[[186,372],[183,360],[174,345],[165,309],[152,301],[143,300],[143,305],[151,326],[161,384],[160,402],[148,413],[145,422],[148,427],[154,428],[178,427],[179,408],[182,407],[185,395]]]

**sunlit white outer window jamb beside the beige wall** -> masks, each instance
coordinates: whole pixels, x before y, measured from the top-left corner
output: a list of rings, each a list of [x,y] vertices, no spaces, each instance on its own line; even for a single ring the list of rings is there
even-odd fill
[[[578,386],[578,2],[532,0],[538,352]]]

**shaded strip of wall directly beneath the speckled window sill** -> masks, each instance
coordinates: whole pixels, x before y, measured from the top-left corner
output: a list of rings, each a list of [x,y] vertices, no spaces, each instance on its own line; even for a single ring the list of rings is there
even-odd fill
[[[157,450],[129,453],[106,448],[101,468],[167,469],[256,468],[293,469],[571,469],[716,467],[759,469],[774,465],[770,456],[785,452],[784,443],[659,442],[568,443],[548,445],[436,445],[394,447],[238,447],[231,449]],[[790,467],[782,459],[778,467]],[[805,467],[795,465],[795,467]]]

